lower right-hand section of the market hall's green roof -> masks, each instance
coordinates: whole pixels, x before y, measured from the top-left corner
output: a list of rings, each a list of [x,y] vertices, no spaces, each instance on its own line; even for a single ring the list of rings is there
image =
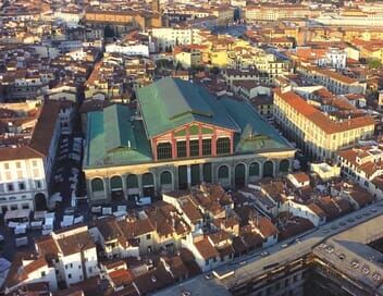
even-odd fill
[[[223,97],[219,101],[242,131],[235,135],[235,152],[292,148],[248,102],[230,97]]]

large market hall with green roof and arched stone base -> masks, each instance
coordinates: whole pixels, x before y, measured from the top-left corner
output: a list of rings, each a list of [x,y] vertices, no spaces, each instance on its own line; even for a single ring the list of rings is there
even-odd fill
[[[291,169],[295,149],[244,100],[218,100],[177,78],[140,88],[137,98],[136,112],[89,113],[84,171],[92,202],[200,182],[240,187]]]

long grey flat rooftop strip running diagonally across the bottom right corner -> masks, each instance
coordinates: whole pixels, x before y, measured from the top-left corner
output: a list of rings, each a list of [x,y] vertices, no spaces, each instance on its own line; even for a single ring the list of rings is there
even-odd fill
[[[186,288],[192,293],[192,295],[221,295],[215,294],[215,292],[222,288],[227,291],[236,284],[244,283],[257,275],[260,275],[264,273],[264,267],[270,264],[283,266],[287,262],[293,262],[302,256],[310,254],[314,246],[319,245],[330,236],[344,232],[353,226],[356,226],[381,214],[383,214],[383,200],[338,218],[332,222],[317,227],[313,231],[309,231],[307,233],[288,238],[272,247],[262,249],[252,255],[244,256],[240,259],[236,259],[214,269],[214,271],[217,271],[219,274],[225,274],[234,271],[233,275],[227,276],[222,281],[217,279],[206,280],[206,274],[200,274],[192,280],[177,285],[173,285],[155,295],[180,295],[180,293]],[[287,247],[285,246],[286,244]],[[261,257],[261,252],[263,250],[267,250],[270,255],[268,257]],[[198,284],[203,285],[203,291],[198,288]]]

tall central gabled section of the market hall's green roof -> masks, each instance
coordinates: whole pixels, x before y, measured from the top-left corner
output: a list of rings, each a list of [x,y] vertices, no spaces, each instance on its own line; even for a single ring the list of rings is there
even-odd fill
[[[166,77],[140,88],[137,99],[149,138],[192,122],[238,131],[212,95],[203,87],[180,78]]]

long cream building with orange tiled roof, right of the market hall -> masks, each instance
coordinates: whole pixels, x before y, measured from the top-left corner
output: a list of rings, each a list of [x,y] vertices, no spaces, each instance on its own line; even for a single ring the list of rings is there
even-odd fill
[[[332,120],[288,89],[274,91],[274,119],[288,138],[317,159],[335,160],[339,149],[349,148],[374,133],[372,118]]]

